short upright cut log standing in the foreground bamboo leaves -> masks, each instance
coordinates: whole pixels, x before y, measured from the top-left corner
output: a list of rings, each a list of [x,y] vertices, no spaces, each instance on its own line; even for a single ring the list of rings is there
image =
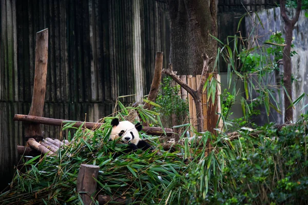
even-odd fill
[[[94,204],[92,198],[97,191],[97,181],[99,175],[99,166],[81,165],[77,178],[76,191],[80,194],[85,205]],[[95,179],[94,179],[95,178]]]

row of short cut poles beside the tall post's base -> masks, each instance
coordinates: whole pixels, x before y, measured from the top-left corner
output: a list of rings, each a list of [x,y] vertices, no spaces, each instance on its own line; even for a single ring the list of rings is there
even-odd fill
[[[67,140],[60,141],[59,139],[51,139],[49,137],[43,139],[43,141],[37,142],[34,138],[29,138],[27,146],[17,146],[18,154],[22,155],[37,155],[46,154],[55,155],[56,151],[62,146],[68,144]]]

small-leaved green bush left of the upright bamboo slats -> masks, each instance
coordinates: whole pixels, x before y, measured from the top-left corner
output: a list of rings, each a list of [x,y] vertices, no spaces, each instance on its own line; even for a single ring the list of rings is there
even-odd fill
[[[163,78],[162,92],[156,98],[156,103],[161,107],[153,107],[153,111],[160,113],[165,127],[172,126],[172,116],[177,117],[179,124],[183,124],[184,117],[188,116],[188,102],[178,95],[181,87],[179,85],[172,86],[171,83],[170,76]]]

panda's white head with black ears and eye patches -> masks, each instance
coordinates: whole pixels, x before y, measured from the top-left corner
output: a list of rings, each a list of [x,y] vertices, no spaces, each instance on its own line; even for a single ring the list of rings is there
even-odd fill
[[[111,126],[110,140],[120,140],[122,143],[138,144],[140,140],[139,132],[142,129],[142,125],[139,122],[133,125],[130,121],[119,121],[118,118],[114,118],[111,121]]]

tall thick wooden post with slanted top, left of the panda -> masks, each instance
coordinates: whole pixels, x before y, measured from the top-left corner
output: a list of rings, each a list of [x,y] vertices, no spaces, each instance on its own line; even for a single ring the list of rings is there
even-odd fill
[[[36,33],[34,85],[29,115],[43,116],[47,61],[48,29],[44,29]],[[36,141],[43,139],[43,132],[40,124],[29,123],[25,126],[25,139],[28,140],[29,138],[34,138]]]

